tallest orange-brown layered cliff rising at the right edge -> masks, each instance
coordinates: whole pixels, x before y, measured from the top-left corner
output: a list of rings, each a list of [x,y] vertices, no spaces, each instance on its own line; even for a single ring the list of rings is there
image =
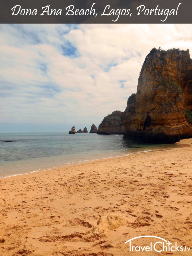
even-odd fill
[[[153,48],[125,109],[124,137],[175,143],[192,137],[192,59],[189,50]]]

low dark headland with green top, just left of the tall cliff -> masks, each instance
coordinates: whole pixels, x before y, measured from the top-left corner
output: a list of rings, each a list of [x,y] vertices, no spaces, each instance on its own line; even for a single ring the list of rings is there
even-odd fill
[[[98,127],[97,134],[122,134],[123,116],[124,112],[118,110],[105,116]]]

